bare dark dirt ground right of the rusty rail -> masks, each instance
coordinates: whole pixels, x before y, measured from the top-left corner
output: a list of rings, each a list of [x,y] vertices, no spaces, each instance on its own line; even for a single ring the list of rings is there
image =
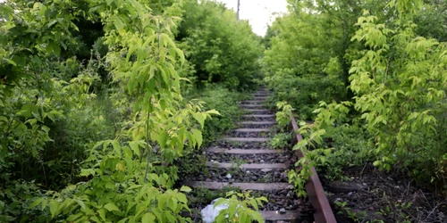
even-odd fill
[[[344,169],[344,176],[342,182],[321,176],[337,222],[447,222],[447,198],[407,176],[370,164]]]

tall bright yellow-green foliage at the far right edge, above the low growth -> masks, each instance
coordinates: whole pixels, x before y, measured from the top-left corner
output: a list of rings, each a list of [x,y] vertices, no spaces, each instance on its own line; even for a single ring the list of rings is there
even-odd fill
[[[447,152],[440,135],[446,123],[447,49],[434,39],[416,37],[406,17],[398,21],[401,26],[391,30],[375,24],[374,17],[358,19],[360,29],[353,39],[365,40],[374,50],[350,69],[354,108],[375,135],[375,153],[381,157],[375,165],[412,167],[415,177],[434,177],[433,169],[444,168],[436,167],[440,154]]]

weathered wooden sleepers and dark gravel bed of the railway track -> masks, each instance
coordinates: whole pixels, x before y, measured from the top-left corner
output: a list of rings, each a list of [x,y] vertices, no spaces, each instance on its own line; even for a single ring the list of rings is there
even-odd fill
[[[320,216],[323,212],[318,201],[311,203],[315,200],[315,190],[309,193],[309,198],[314,198],[301,199],[288,184],[287,170],[294,168],[297,155],[269,146],[268,142],[277,129],[274,111],[266,109],[268,94],[262,88],[250,100],[240,103],[246,114],[238,128],[207,148],[207,169],[198,176],[187,178],[183,184],[194,189],[249,190],[266,196],[269,202],[260,210],[266,222],[331,222]],[[197,208],[207,204],[200,204]]]

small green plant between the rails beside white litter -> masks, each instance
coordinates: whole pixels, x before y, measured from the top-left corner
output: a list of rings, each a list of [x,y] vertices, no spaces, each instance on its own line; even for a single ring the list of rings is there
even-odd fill
[[[227,199],[221,198],[215,202],[218,205],[228,205],[227,209],[219,212],[215,219],[216,223],[236,223],[236,222],[253,222],[264,223],[262,215],[258,212],[262,202],[268,202],[266,197],[254,198],[250,192],[236,193],[229,192],[226,194]]]

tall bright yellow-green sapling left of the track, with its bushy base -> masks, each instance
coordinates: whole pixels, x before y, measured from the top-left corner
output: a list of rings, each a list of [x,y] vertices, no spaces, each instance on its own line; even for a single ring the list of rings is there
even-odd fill
[[[190,221],[180,215],[188,210],[186,196],[171,189],[176,176],[166,170],[156,174],[154,164],[172,163],[187,139],[190,148],[200,146],[198,128],[216,112],[201,112],[200,102],[182,107],[181,78],[173,64],[184,56],[170,37],[175,18],[151,15],[136,1],[116,5],[104,3],[95,10],[105,21],[105,43],[114,45],[107,54],[114,81],[134,99],[133,119],[122,136],[98,142],[90,151],[80,174],[89,181],[33,204],[46,208],[49,203],[46,211],[52,219],[69,221]],[[191,128],[191,119],[198,128]]]

